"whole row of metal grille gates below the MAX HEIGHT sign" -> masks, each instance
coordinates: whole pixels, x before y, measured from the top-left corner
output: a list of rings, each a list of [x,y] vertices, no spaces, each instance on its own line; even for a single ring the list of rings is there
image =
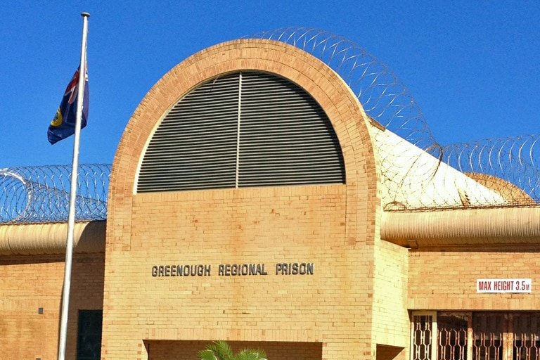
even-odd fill
[[[540,360],[540,313],[413,314],[411,360]]]

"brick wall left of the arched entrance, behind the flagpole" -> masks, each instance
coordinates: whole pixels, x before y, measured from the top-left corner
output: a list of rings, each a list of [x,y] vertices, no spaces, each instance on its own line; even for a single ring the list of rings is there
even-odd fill
[[[64,259],[0,257],[0,359],[58,359]],[[75,359],[77,311],[102,307],[103,269],[103,254],[73,258],[66,359]]]

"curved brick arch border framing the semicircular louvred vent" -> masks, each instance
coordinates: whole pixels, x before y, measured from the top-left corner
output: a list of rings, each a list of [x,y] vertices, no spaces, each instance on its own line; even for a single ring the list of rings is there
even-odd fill
[[[378,211],[377,176],[373,142],[359,101],[333,70],[309,53],[278,41],[241,39],[211,46],[176,65],[148,91],[132,115],[111,172],[108,222],[123,226],[108,226],[109,250],[129,246],[124,230],[129,231],[136,172],[153,129],[167,110],[195,86],[237,70],[260,70],[288,78],[319,102],[338,134],[345,159],[346,243],[354,245],[360,234],[362,241],[373,241]],[[358,211],[361,203],[361,207],[367,208]]]

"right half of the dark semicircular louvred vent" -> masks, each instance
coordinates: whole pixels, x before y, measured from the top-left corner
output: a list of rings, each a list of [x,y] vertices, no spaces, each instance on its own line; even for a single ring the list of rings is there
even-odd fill
[[[338,139],[309,94],[281,77],[243,73],[238,186],[345,181]]]

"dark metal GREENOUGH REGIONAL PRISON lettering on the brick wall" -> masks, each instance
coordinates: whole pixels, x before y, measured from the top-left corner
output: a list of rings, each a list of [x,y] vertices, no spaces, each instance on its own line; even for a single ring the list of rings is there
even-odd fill
[[[274,264],[276,275],[313,275],[313,262],[279,262]],[[268,275],[266,264],[185,264],[154,265],[152,276],[259,276]]]

